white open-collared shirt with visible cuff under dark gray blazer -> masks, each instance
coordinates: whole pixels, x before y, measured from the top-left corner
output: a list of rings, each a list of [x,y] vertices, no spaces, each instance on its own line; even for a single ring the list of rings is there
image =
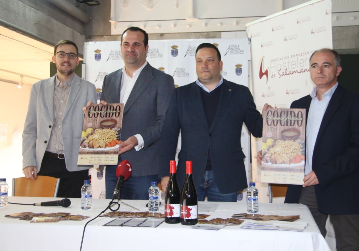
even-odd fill
[[[135,86],[137,78],[140,75],[143,68],[145,68],[146,65],[147,65],[147,61],[140,68],[138,68],[136,71],[134,71],[134,73],[132,74],[132,77],[130,77],[127,74],[125,67],[122,68],[120,103],[123,103],[126,105],[127,99],[129,99],[130,93],[131,93],[133,87]],[[141,134],[137,133],[136,135],[134,135],[134,137],[136,137],[137,141],[138,141],[138,145],[135,146],[135,150],[139,151],[139,150],[141,150],[141,148],[144,147],[145,142],[144,142]]]

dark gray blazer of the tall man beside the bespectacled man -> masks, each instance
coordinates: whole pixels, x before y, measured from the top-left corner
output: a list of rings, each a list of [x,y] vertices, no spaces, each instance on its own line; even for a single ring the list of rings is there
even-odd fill
[[[122,69],[105,76],[101,100],[120,102]],[[122,160],[130,161],[132,176],[158,174],[159,145],[165,113],[174,90],[173,78],[149,63],[143,68],[123,108],[121,140],[139,133],[144,139],[140,151],[122,153]]]

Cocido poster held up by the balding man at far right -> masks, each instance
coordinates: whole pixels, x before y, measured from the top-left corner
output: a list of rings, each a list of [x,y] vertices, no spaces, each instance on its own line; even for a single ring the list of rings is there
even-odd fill
[[[306,109],[272,108],[264,112],[261,181],[303,184]]]

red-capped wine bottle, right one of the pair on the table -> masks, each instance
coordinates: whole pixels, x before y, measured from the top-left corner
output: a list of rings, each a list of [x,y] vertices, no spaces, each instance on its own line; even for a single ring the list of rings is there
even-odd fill
[[[186,162],[186,181],[182,189],[181,224],[195,225],[197,219],[197,191],[192,179],[192,161]]]

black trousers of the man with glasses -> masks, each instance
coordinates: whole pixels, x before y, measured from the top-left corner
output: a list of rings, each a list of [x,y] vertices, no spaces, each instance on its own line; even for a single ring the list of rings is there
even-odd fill
[[[65,159],[50,152],[45,152],[37,175],[60,178],[57,193],[60,198],[81,198],[81,187],[84,180],[89,179],[88,170],[70,172],[66,169]]]

